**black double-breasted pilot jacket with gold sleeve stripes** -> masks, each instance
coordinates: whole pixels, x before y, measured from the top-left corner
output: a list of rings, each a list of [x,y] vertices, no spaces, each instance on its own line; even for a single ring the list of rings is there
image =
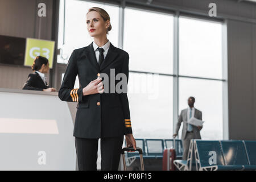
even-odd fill
[[[110,43],[108,53],[99,67],[93,42],[86,47],[75,49],[68,60],[67,68],[59,90],[62,101],[78,102],[73,136],[78,138],[118,137],[131,134],[130,110],[127,93],[104,93],[82,96],[82,88],[95,80],[99,73],[109,77],[110,69],[115,76],[124,73],[129,76],[129,54]],[[76,76],[80,88],[74,89]],[[103,80],[102,80],[103,81]],[[117,85],[118,81],[115,81]],[[109,86],[110,88],[110,86]],[[110,89],[109,89],[110,91]]]

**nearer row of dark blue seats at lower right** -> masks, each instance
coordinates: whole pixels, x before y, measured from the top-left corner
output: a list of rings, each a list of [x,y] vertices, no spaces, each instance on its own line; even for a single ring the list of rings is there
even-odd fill
[[[195,156],[194,156],[195,155]],[[187,160],[174,160],[179,170],[256,170],[256,141],[192,139]]]

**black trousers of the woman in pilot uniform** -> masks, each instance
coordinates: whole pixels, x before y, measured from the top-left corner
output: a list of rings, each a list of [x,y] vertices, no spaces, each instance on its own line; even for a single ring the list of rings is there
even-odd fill
[[[101,138],[101,170],[118,171],[119,160],[123,145],[123,136]],[[97,170],[98,138],[75,137],[77,163],[79,171]]]

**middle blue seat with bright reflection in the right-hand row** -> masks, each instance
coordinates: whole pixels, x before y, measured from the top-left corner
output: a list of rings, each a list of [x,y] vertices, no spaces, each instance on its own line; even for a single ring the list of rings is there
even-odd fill
[[[234,170],[250,166],[245,146],[241,140],[222,140],[220,143],[226,166],[232,166]]]

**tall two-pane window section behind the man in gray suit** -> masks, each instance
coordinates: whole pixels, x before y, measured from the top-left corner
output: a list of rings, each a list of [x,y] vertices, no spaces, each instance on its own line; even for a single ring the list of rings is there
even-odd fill
[[[199,78],[196,78],[199,77]],[[179,18],[179,114],[189,96],[202,111],[203,139],[223,139],[222,24]]]

